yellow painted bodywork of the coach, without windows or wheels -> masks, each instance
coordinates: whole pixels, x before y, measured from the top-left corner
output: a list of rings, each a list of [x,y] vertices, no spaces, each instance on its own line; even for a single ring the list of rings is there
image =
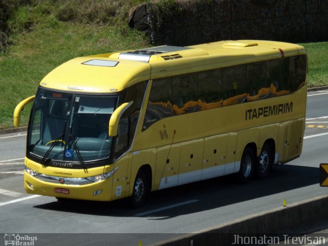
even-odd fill
[[[228,40],[185,48],[153,54],[148,63],[119,58],[121,53],[128,51],[78,57],[50,72],[40,86],[58,91],[110,94],[142,81],[148,81],[148,87],[132,145],[114,163],[84,170],[45,167],[27,158],[25,161],[28,168],[50,176],[86,178],[115,169],[113,176],[88,185],[72,186],[48,183],[25,172],[26,191],[74,199],[115,200],[132,195],[140,168],[151,170],[150,190],[154,191],[236,173],[244,148],[254,144],[258,156],[268,139],[275,143],[276,163],[301,154],[306,79],[292,94],[287,90],[277,91],[271,84],[263,86],[257,95],[243,93],[215,103],[189,101],[182,108],[170,102],[160,103],[159,106],[171,108],[177,115],[162,118],[143,130],[154,79],[306,54],[302,46],[264,40]],[[176,57],[176,54],[181,58],[166,60],[163,57]],[[84,64],[90,60],[108,61],[115,66]],[[260,99],[269,93],[276,97]],[[244,99],[248,102],[237,104]],[[183,114],[186,108],[196,106],[201,111]],[[118,124],[114,121],[119,117],[117,113],[111,122],[111,136],[117,132]],[[70,193],[54,192],[55,188],[61,187],[69,189]],[[94,196],[98,190],[101,193]]]

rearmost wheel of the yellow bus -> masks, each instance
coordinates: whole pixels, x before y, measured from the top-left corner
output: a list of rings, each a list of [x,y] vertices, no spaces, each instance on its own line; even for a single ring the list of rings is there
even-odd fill
[[[258,179],[264,179],[268,177],[269,172],[272,169],[272,163],[272,151],[269,145],[264,144],[256,162],[256,177]]]

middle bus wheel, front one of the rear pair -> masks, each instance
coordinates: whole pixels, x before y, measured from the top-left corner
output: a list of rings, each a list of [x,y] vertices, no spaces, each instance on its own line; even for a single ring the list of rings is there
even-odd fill
[[[238,172],[238,180],[240,183],[247,183],[253,177],[255,167],[254,152],[250,148],[245,148],[242,152],[240,161],[240,170]]]

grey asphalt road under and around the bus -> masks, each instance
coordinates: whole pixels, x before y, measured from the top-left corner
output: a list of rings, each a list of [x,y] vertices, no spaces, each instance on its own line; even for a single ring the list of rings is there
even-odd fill
[[[148,245],[278,208],[283,199],[288,206],[328,193],[328,187],[319,186],[319,165],[328,163],[328,90],[309,93],[301,157],[275,165],[268,179],[241,186],[226,176],[161,190],[151,193],[146,206],[137,210],[127,207],[125,199],[60,203],[26,194],[24,134],[0,135],[0,233],[51,233],[37,234],[36,242],[48,245],[76,240],[79,245],[138,245],[139,240]]]

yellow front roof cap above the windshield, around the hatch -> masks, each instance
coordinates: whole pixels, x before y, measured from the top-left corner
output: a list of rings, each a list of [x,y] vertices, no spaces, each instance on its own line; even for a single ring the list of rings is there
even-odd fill
[[[61,91],[111,93],[150,78],[150,65],[147,63],[101,57],[101,60],[116,61],[117,65],[105,67],[83,64],[91,59],[78,57],[67,61],[51,71],[40,82],[40,86]]]

